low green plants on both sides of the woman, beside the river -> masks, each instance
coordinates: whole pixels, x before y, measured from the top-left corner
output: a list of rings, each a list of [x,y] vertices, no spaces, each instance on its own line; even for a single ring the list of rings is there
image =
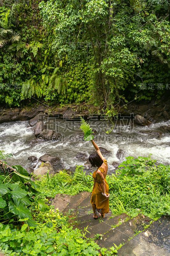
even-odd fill
[[[119,215],[125,212],[134,217],[140,212],[152,219],[158,219],[162,214],[169,214],[170,166],[163,164],[155,166],[155,160],[152,160],[151,156],[137,159],[127,157],[127,161],[128,163],[124,161],[125,164],[122,165],[131,166],[132,170],[129,170],[129,173],[122,176],[112,174],[106,178],[112,213]],[[143,171],[136,172],[135,164],[138,171],[141,171],[141,167]],[[124,172],[124,169],[118,172]],[[61,186],[62,183],[65,186]],[[92,174],[85,175],[82,166],[78,166],[74,175],[62,172],[51,177],[49,182],[43,179],[36,181],[36,184],[40,185],[39,191],[42,196],[54,197],[56,193],[76,195],[80,191],[91,192],[93,179]]]

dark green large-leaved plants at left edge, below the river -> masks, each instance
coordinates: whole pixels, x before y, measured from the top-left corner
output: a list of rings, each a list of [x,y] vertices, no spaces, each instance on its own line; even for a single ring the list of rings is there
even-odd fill
[[[0,151],[0,158],[11,157]],[[1,222],[17,221],[18,218],[27,218],[28,225],[35,226],[32,209],[37,207],[46,211],[48,206],[38,198],[39,188],[29,177],[29,173],[20,165],[9,167],[0,160],[3,172],[0,173],[0,220]],[[34,198],[32,196],[35,196]]]

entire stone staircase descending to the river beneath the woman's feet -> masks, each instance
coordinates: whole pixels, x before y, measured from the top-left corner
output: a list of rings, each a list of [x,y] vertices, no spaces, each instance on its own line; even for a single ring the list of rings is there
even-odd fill
[[[150,225],[151,219],[142,214],[130,219],[125,213],[112,215],[109,209],[104,218],[94,220],[90,199],[91,193],[87,191],[75,196],[57,194],[52,205],[69,214],[74,229],[84,232],[88,227],[87,239],[108,250],[112,246],[117,248],[118,256],[170,256],[170,217],[162,216],[161,221]],[[160,223],[162,226],[158,228]],[[146,225],[150,226],[146,228]]]

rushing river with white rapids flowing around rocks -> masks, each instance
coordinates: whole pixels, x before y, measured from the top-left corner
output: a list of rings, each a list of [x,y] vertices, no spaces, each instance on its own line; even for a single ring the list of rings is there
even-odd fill
[[[168,125],[169,121],[143,127],[132,125],[132,121],[125,124],[119,120],[115,121],[115,126],[109,134],[106,131],[112,127],[111,123],[91,121],[90,124],[97,131],[94,138],[97,145],[111,151],[110,154],[104,155],[108,161],[108,174],[115,170],[112,165],[113,161],[122,162],[127,156],[146,157],[152,153],[152,159],[157,159],[162,164],[170,164],[170,132],[160,129],[160,126]],[[36,169],[40,162],[37,160],[32,163],[28,157],[36,156],[39,159],[44,154],[51,154],[59,157],[65,168],[84,165],[86,160],[76,158],[77,153],[82,152],[89,156],[94,148],[90,141],[82,140],[82,133],[79,130],[80,122],[50,118],[46,125],[49,129],[61,132],[63,140],[49,140],[30,145],[31,141],[36,138],[33,131],[34,127],[29,125],[29,121],[0,124],[0,150],[13,155],[7,160],[7,163],[21,165],[24,168],[33,168],[33,165],[36,165],[34,167]],[[139,131],[160,131],[162,135],[154,137]],[[119,149],[124,151],[124,156],[121,159],[116,157],[116,152]],[[89,172],[88,169],[85,168],[85,170],[87,173]]]

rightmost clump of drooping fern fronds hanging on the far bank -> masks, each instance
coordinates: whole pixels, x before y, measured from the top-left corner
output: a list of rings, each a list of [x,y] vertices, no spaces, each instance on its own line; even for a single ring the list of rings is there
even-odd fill
[[[57,90],[58,94],[60,94],[60,92],[64,94],[67,87],[67,81],[62,76],[56,74],[58,70],[59,68],[54,69],[53,75],[49,81],[49,87]]]

